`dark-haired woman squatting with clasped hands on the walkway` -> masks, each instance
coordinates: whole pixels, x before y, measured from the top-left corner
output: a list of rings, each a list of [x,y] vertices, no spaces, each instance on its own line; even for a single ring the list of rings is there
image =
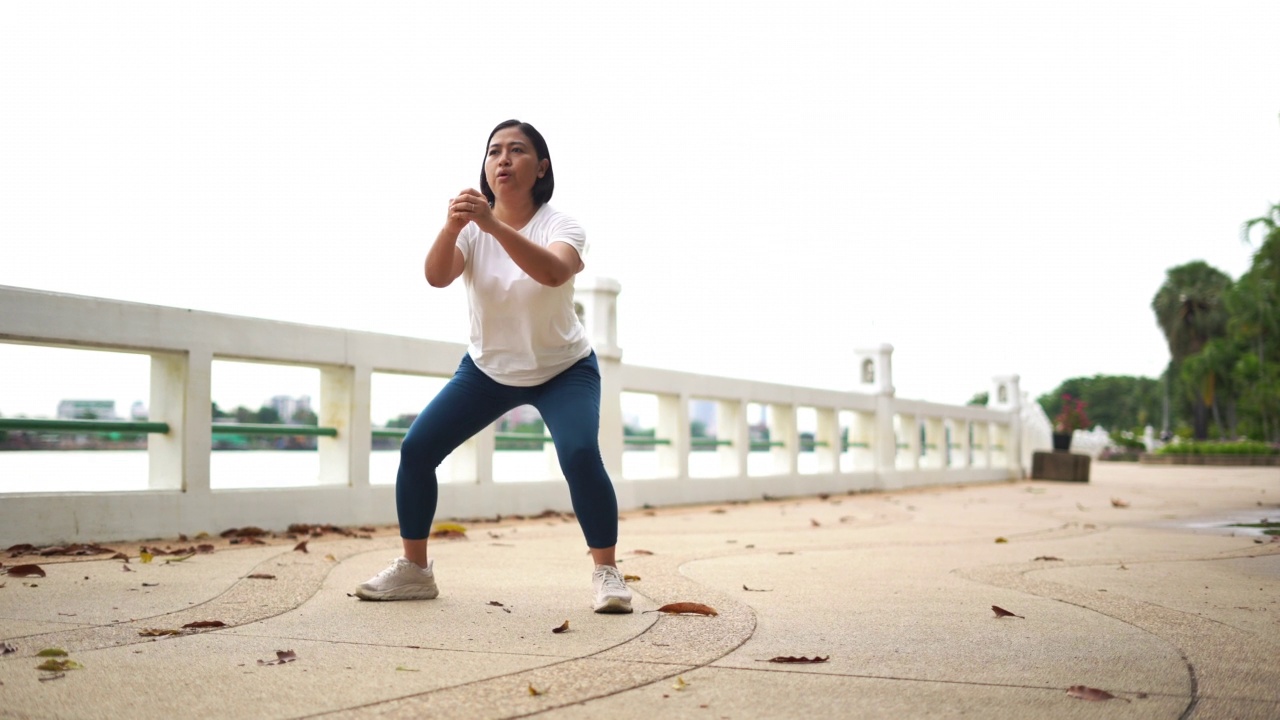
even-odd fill
[[[426,555],[435,468],[503,413],[532,405],[550,430],[591,550],[595,611],[631,612],[631,591],[614,559],[618,501],[600,460],[600,369],[573,311],[586,234],[547,204],[554,187],[547,141],[529,123],[507,120],[489,133],[480,191],[463,190],[449,201],[426,254],[426,282],[447,287],[463,278],[471,345],[401,446],[396,510],[404,556],[358,585],[357,597],[438,594]]]

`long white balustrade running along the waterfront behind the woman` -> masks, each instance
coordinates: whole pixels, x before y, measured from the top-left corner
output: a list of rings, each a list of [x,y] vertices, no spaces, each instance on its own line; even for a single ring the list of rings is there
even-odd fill
[[[622,509],[1016,479],[1029,466],[1030,451],[1048,445],[1034,416],[1028,424],[1034,432],[1023,437],[1023,414],[1036,404],[1025,402],[1016,377],[993,379],[988,407],[895,397],[888,345],[858,354],[850,382],[856,391],[847,392],[627,365],[617,342],[620,291],[614,281],[582,278],[576,299],[600,363],[600,452]],[[370,482],[371,378],[375,373],[449,377],[466,351],[461,343],[4,286],[0,342],[148,355],[150,419],[169,425],[165,434],[148,436],[147,489],[4,495],[0,544],[170,537],[242,525],[394,523],[394,487]],[[335,428],[337,436],[319,438],[316,482],[288,488],[210,487],[215,360],[320,372],[319,423]],[[657,477],[623,475],[625,392],[657,398],[659,443],[645,451],[655,456]],[[694,401],[714,404],[719,442],[714,448],[694,446]],[[767,409],[772,442],[762,451],[767,471],[760,474],[749,471],[749,405]],[[805,421],[815,423],[813,447],[801,447],[801,409],[813,418]],[[494,433],[486,428],[451,457],[451,479],[466,482],[440,483],[439,515],[570,510],[563,480],[494,482]],[[549,443],[545,452],[553,461]],[[804,473],[803,452],[814,454]],[[718,474],[691,477],[692,454],[714,457],[710,465]]]

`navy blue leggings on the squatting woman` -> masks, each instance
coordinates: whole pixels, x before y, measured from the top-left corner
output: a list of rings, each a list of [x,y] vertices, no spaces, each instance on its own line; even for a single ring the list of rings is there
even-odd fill
[[[618,498],[600,460],[600,366],[595,352],[540,386],[504,386],[462,357],[453,375],[410,427],[396,475],[401,537],[422,539],[439,500],[435,469],[471,436],[521,405],[532,405],[550,430],[573,512],[588,547],[618,542]]]

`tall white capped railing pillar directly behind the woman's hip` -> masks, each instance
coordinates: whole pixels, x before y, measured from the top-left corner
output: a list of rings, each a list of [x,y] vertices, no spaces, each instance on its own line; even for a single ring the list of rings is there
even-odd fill
[[[580,278],[573,297],[600,364],[600,459],[614,482],[622,479],[622,348],[618,347],[618,293],[612,278]]]

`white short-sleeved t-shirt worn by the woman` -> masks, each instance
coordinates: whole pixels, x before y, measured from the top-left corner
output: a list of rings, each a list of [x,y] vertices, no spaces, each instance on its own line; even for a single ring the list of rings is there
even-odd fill
[[[586,255],[577,220],[544,204],[520,234],[549,247],[566,242]],[[548,287],[529,277],[502,245],[475,223],[458,233],[466,259],[462,279],[471,307],[467,354],[484,374],[518,387],[541,384],[591,354],[586,329],[573,311],[573,279]]]

